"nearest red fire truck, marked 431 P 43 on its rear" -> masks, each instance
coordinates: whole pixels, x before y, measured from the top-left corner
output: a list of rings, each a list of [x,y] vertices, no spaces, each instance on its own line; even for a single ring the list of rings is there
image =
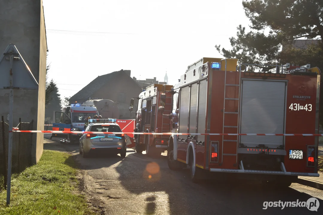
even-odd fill
[[[203,170],[249,173],[243,176],[279,186],[318,177],[317,136],[255,134],[318,134],[321,72],[309,64],[270,68],[221,58],[189,65],[174,87],[171,131],[190,134],[170,137],[169,168],[188,164],[194,182]]]

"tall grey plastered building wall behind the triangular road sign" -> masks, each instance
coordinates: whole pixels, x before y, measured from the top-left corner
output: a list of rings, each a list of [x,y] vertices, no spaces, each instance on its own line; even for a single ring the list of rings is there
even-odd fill
[[[13,125],[33,123],[33,130],[43,130],[45,115],[46,34],[42,0],[0,0],[0,53],[8,44],[16,45],[39,83],[38,90],[14,90]],[[9,91],[0,90],[0,116],[9,113]],[[43,151],[43,134],[33,134],[32,162]]]

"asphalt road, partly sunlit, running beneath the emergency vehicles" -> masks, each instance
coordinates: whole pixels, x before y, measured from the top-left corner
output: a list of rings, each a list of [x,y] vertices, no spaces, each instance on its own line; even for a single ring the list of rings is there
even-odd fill
[[[323,191],[297,183],[286,189],[214,179],[194,184],[189,170],[171,171],[165,155],[152,159],[128,149],[124,159],[107,154],[84,159],[78,145],[46,142],[45,149],[73,154],[84,170],[86,193],[99,200],[101,214],[323,214]],[[318,211],[263,209],[264,201],[307,201],[311,197],[318,199]]]

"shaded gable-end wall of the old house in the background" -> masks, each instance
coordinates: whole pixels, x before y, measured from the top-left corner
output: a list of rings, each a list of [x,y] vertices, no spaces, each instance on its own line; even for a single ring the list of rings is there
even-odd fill
[[[120,73],[118,78],[115,78],[109,85],[102,87],[99,91],[93,93],[95,98],[109,99],[115,102],[120,111],[120,119],[134,119],[135,114],[130,113],[129,105],[132,97],[137,97],[142,92],[141,87],[126,73]],[[120,101],[118,93],[125,93],[125,100]],[[135,106],[137,107],[137,99]],[[133,110],[136,110],[136,107]]]

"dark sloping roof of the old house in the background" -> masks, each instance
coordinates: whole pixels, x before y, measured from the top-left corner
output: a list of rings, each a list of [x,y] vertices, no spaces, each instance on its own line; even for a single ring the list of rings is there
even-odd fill
[[[105,86],[107,83],[109,83],[112,79],[119,76],[120,74],[127,74],[131,80],[133,80],[130,77],[130,70],[120,70],[112,73],[108,73],[105,75],[100,75],[93,81],[91,81],[88,85],[83,87],[80,91],[78,91],[75,95],[73,95],[69,101],[77,101],[81,99],[88,99],[89,97],[92,97],[92,94],[98,91],[101,87]],[[136,82],[135,80],[133,80]],[[138,83],[137,83],[138,84]],[[139,84],[138,84],[139,85]],[[140,85],[139,85],[140,86]]]

